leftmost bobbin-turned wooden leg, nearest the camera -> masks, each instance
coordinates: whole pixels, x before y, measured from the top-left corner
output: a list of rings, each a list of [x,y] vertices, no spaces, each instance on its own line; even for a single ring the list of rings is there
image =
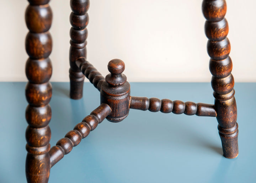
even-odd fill
[[[26,62],[26,109],[27,182],[47,183],[50,174],[50,127],[52,111],[49,101],[52,97],[52,64],[48,56],[52,52],[52,37],[48,30],[52,24],[52,10],[49,0],[29,0],[25,12],[28,32],[25,46],[30,58]]]

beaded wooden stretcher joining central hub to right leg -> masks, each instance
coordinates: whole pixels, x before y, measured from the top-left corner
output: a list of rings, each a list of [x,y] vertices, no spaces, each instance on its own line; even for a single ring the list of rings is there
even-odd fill
[[[174,113],[197,116],[216,117],[214,105],[194,102],[183,102],[180,100],[171,101],[169,99],[146,98],[139,96],[131,96],[130,109],[138,109],[142,111],[149,110],[151,112],[161,111],[163,113]]]

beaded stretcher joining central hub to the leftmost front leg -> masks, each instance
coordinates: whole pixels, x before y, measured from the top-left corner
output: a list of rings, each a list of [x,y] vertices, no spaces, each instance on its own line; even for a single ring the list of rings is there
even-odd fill
[[[87,137],[90,131],[93,131],[98,123],[101,123],[110,113],[110,106],[102,103],[90,115],[86,116],[81,123],[78,123],[74,130],[66,133],[65,138],[60,139],[56,146],[53,146],[49,151],[51,167],[61,160],[64,155],[70,153],[73,147],[77,146],[82,138]]]

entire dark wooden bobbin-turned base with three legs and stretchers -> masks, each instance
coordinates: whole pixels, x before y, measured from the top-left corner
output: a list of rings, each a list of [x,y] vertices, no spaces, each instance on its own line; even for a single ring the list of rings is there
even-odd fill
[[[234,98],[234,78],[231,74],[232,61],[229,57],[230,43],[228,22],[225,19],[225,0],[203,0],[202,11],[206,18],[205,34],[207,51],[210,56],[209,69],[212,73],[212,88],[215,98],[213,104],[183,102],[180,100],[158,99],[130,96],[130,84],[122,74],[125,64],[113,59],[108,63],[108,74],[103,77],[86,60],[86,38],[89,17],[89,0],[70,0],[70,98],[82,98],[84,78],[88,78],[100,91],[101,105],[66,133],[55,146],[50,148],[51,120],[49,101],[52,86],[52,64],[48,58],[52,51],[52,38],[48,32],[52,24],[52,10],[49,0],[28,0],[25,20],[29,32],[25,46],[29,56],[26,62],[26,177],[27,182],[47,183],[50,168],[70,153],[82,138],[87,137],[105,118],[120,122],[128,116],[130,109],[151,112],[174,113],[216,117],[222,141],[223,153],[227,158],[238,156],[238,124]]]

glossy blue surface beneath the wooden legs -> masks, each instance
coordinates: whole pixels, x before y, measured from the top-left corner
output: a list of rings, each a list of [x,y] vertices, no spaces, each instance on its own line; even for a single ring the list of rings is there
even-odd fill
[[[26,182],[24,82],[0,83],[0,182]],[[50,144],[63,138],[100,104],[84,84],[72,100],[69,83],[52,83]],[[223,157],[214,117],[131,109],[120,123],[104,120],[51,169],[49,183],[256,182],[256,83],[236,83],[239,155]],[[131,83],[132,96],[213,104],[210,83]]]

